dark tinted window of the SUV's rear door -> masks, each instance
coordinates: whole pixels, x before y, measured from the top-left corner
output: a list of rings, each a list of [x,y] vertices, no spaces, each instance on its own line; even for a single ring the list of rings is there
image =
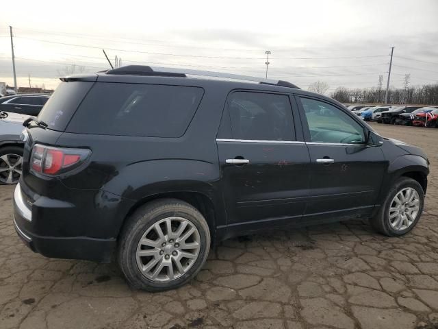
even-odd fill
[[[235,139],[294,141],[294,120],[289,97],[236,92],[228,99],[231,131]]]

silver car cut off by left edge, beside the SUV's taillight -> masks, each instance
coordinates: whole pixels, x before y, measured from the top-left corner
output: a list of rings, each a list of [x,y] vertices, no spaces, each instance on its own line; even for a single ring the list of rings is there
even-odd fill
[[[23,121],[29,116],[0,112],[0,184],[16,184],[20,179]]]

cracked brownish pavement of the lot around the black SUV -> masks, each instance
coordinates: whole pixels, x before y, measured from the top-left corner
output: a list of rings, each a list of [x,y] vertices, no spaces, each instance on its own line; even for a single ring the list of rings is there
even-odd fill
[[[0,186],[0,328],[438,328],[438,130],[373,125],[430,158],[410,234],[348,221],[224,241],[165,293],[129,289],[114,264],[34,254],[12,226],[14,187]]]

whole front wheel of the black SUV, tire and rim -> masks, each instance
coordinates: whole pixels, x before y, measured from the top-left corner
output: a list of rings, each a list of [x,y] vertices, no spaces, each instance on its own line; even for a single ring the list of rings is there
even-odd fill
[[[411,231],[423,212],[424,191],[412,178],[400,178],[391,188],[371,224],[387,236],[402,236]]]

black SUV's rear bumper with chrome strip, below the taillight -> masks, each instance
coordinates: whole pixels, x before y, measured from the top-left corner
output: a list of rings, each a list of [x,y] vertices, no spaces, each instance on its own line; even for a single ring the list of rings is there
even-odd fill
[[[34,231],[38,218],[25,203],[20,184],[14,192],[14,227],[23,243],[33,252],[51,258],[69,258],[110,262],[116,239],[96,239],[88,236],[42,236]]]

